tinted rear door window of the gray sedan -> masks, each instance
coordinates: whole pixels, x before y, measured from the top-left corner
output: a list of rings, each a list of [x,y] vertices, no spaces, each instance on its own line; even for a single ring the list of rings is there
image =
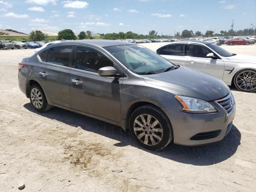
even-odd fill
[[[70,66],[72,46],[58,46],[49,49],[47,62],[61,66]]]

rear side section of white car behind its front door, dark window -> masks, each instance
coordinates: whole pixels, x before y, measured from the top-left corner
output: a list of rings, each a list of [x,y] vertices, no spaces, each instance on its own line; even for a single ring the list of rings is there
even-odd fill
[[[185,55],[185,44],[175,43],[164,46],[157,50],[157,53],[173,64],[187,66],[187,56]]]

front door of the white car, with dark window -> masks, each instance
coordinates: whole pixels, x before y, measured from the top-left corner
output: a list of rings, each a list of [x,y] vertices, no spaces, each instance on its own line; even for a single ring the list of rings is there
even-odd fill
[[[188,67],[210,73],[222,80],[224,74],[224,62],[220,58],[206,58],[212,53],[208,48],[198,44],[188,44]]]

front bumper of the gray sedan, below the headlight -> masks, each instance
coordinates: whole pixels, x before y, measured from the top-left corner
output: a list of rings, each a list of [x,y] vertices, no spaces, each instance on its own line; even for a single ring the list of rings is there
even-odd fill
[[[232,128],[236,114],[236,104],[229,114],[216,102],[211,102],[219,112],[193,114],[182,111],[162,109],[172,124],[174,143],[196,146],[220,141]]]

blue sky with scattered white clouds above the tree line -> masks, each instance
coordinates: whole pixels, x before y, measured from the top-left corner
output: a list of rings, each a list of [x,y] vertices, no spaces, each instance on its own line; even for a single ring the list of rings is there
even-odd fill
[[[256,0],[0,0],[0,29],[75,33],[132,31],[174,34],[184,29],[234,30],[256,25]]]

